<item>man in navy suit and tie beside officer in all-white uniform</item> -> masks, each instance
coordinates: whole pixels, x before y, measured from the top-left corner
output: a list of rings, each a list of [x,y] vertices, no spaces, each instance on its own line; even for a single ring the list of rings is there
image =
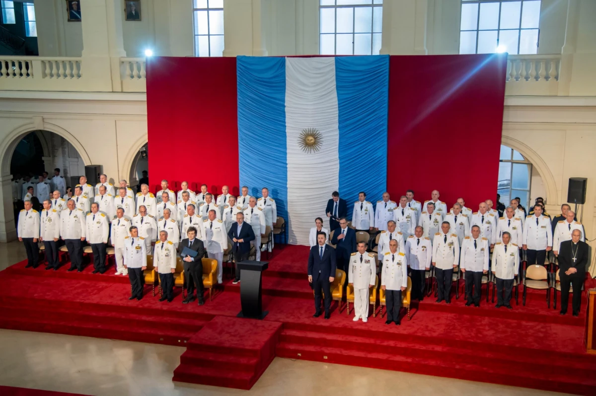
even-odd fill
[[[311,248],[308,256],[308,281],[312,283],[315,291],[315,314],[312,317],[321,316],[321,290],[325,294],[325,319],[331,316],[331,282],[335,279],[336,258],[335,249],[325,244],[327,234],[316,233],[316,241],[319,242]]]

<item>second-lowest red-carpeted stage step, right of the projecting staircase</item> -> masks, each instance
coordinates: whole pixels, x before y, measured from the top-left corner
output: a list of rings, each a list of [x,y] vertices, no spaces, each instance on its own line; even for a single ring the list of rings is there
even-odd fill
[[[450,347],[402,339],[372,339],[364,336],[346,336],[321,332],[305,332],[300,330],[284,329],[280,334],[280,342],[288,344],[321,345],[327,347],[344,348],[347,350],[370,351],[376,353],[389,353],[402,356],[435,358],[438,354],[449,356],[453,361],[461,363],[498,364],[499,367],[512,370],[526,369],[528,364],[542,372],[567,373],[575,375],[596,375],[596,360],[589,362],[575,358],[558,357],[557,359],[537,359],[531,354],[519,353],[518,348],[505,348],[505,351],[494,346],[490,351],[483,351],[470,345],[468,348]]]

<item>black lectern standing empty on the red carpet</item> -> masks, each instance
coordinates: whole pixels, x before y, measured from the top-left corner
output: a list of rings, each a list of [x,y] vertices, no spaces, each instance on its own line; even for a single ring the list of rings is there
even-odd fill
[[[261,273],[269,266],[268,261],[241,261],[240,268],[240,304],[242,311],[237,317],[263,319],[268,311],[263,312],[261,305]]]

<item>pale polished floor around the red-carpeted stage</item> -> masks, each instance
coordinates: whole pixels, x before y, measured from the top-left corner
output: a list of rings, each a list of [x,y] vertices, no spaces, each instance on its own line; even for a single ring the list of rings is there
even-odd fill
[[[0,244],[0,270],[25,258],[18,242]],[[172,382],[182,347],[0,329],[0,385],[97,396],[563,395],[388,370],[275,358],[250,391]]]

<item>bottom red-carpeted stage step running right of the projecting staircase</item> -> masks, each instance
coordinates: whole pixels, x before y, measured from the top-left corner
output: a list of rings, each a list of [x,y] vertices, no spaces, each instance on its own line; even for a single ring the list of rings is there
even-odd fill
[[[349,364],[386,370],[397,370],[424,375],[502,383],[526,388],[544,389],[555,392],[573,392],[581,395],[596,394],[596,377],[579,377],[564,374],[542,373],[533,370],[531,364],[524,371],[495,367],[491,361],[485,364],[460,363],[450,357],[437,358],[406,357],[390,353],[346,350],[344,348],[322,347],[280,342],[278,357],[301,358],[324,361],[325,363]]]

